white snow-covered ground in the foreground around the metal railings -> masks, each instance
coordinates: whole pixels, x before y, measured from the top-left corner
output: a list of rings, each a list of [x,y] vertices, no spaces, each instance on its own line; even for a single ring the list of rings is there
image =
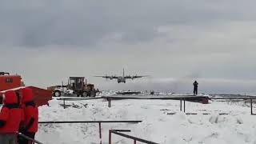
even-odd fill
[[[129,129],[133,136],[162,144],[256,144],[256,116],[244,102],[186,102],[186,115],[173,100],[117,100],[107,107],[104,99],[70,101],[75,107],[63,109],[56,99],[39,108],[40,121],[142,120],[138,124],[103,123],[102,143],[108,143],[108,130]],[[255,109],[256,110],[256,109]],[[168,114],[174,113],[177,114]],[[202,115],[202,113],[210,113]],[[218,115],[227,113],[228,115]],[[46,144],[99,143],[98,124],[40,124],[36,139]],[[113,143],[132,140],[113,135]],[[139,143],[139,142],[138,142]]]

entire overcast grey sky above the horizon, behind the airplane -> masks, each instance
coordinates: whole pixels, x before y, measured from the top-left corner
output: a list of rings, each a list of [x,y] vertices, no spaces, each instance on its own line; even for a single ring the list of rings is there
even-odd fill
[[[256,94],[254,0],[0,0],[1,71],[27,86]],[[150,75],[118,84],[94,75]]]

